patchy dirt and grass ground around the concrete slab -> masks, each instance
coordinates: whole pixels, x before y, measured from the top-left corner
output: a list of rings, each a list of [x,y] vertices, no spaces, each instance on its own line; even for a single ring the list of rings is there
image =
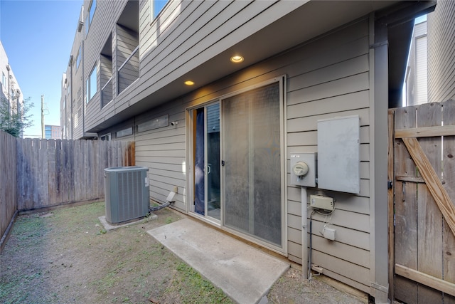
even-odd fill
[[[98,220],[104,202],[18,216],[0,256],[0,303],[232,303],[146,234],[184,215],[156,211],[113,231]],[[340,287],[340,285],[338,285]],[[290,268],[269,303],[368,303]]]

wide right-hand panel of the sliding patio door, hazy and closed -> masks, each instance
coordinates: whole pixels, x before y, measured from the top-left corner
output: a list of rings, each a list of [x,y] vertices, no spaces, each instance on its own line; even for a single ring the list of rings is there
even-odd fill
[[[279,83],[222,100],[225,226],[282,246]]]

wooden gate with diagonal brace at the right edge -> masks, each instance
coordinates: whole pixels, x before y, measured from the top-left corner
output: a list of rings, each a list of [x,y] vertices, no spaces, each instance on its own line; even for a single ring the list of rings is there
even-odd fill
[[[392,109],[389,118],[392,297],[455,303],[455,101]]]

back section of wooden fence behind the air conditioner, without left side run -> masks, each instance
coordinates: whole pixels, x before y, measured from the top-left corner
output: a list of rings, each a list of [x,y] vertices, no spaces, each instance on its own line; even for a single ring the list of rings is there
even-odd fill
[[[17,140],[18,210],[105,196],[104,169],[134,165],[134,143]]]

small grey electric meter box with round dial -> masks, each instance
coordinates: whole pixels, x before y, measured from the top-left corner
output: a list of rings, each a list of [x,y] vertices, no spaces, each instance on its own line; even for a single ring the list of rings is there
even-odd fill
[[[316,187],[316,152],[291,153],[290,184]]]

